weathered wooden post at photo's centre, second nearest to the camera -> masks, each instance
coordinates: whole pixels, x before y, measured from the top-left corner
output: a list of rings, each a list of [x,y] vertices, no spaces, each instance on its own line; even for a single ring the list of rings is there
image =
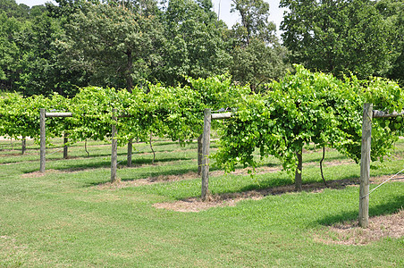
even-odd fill
[[[210,127],[212,121],[212,112],[205,109],[204,112],[204,134],[202,137],[202,201],[206,201],[209,184],[209,148],[210,148]]]

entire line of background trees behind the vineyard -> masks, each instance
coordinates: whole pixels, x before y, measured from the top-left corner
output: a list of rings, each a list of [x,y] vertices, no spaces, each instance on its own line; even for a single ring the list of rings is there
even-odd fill
[[[342,78],[403,80],[403,3],[282,0],[275,35],[269,4],[232,0],[229,29],[211,0],[57,0],[29,8],[0,0],[0,89],[75,96],[88,85],[187,85],[229,73],[265,91],[302,63]]]

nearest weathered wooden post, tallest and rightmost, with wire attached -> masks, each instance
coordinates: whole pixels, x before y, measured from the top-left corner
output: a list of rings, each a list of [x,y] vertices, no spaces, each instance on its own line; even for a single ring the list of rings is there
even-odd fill
[[[367,228],[369,224],[369,176],[372,117],[373,105],[365,104],[362,124],[362,149],[360,158],[359,188],[359,226],[362,228]]]

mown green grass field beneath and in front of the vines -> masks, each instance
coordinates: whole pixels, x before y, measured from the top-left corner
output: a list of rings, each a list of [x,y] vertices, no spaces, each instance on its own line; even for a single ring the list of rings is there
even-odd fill
[[[122,147],[122,184],[109,185],[108,144],[88,142],[89,156],[83,143],[75,144],[63,159],[60,142],[47,149],[47,172],[40,175],[38,146],[29,141],[20,155],[17,141],[13,149],[0,141],[1,267],[404,267],[403,237],[344,243],[352,238],[332,229],[358,218],[358,187],[344,185],[358,181],[359,166],[335,151],[327,151],[324,176],[339,187],[271,194],[288,189],[293,176],[268,157],[254,178],[213,167],[209,181],[215,197],[263,189],[268,195],[235,205],[223,199],[221,206],[184,213],[155,206],[191,203],[200,195],[196,144],[156,140],[154,165],[150,148],[136,144],[131,168]],[[400,172],[404,141],[397,147],[398,157],[374,163],[372,176]],[[321,157],[314,150],[303,155],[308,186],[322,181]],[[395,214],[403,206],[402,180],[370,197],[371,216]],[[357,230],[353,239],[361,234],[366,236]]]

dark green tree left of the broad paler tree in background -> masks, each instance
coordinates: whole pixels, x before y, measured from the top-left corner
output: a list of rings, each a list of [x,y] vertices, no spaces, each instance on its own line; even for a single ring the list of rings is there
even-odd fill
[[[77,86],[87,83],[82,71],[61,64],[61,49],[55,40],[63,37],[59,21],[43,14],[35,18],[20,33],[21,60],[18,90],[26,96],[52,95],[57,92],[72,96]]]

